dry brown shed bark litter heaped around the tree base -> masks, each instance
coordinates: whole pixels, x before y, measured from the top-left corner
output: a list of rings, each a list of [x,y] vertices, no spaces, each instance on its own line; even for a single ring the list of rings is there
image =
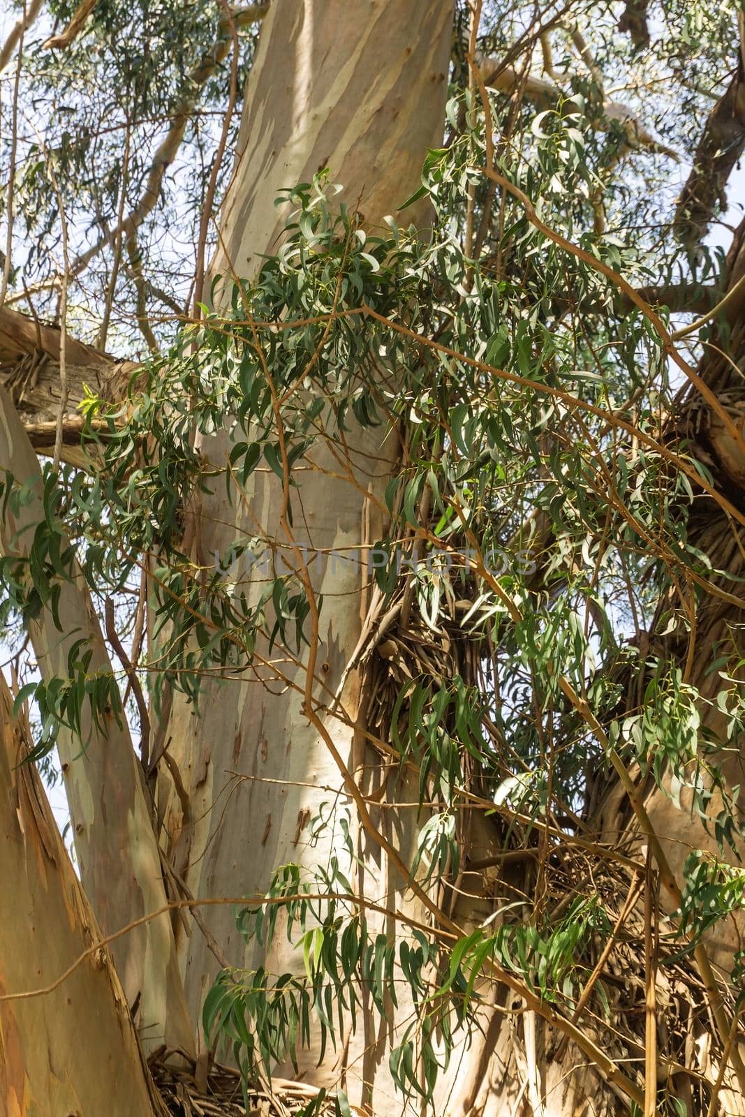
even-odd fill
[[[513,820],[509,830],[508,844],[512,849],[524,851],[532,848],[536,856],[541,856],[539,846],[532,846],[532,841],[538,842],[535,828],[524,829],[519,821]],[[599,846],[593,848],[600,850]],[[624,847],[624,851],[639,855],[632,841]],[[614,1059],[629,1062],[636,1073],[641,1075],[644,1052],[644,905],[637,892],[636,901],[625,905],[622,911],[623,896],[629,892],[632,872],[628,866],[619,863],[613,848],[609,847],[608,855],[608,860],[599,863],[595,856],[588,857],[585,850],[575,846],[567,834],[566,841],[555,847],[543,863],[545,899],[550,908],[558,914],[560,909],[566,910],[572,897],[592,890],[611,922],[620,917],[610,951],[602,935],[588,944],[582,960],[584,973],[582,970],[577,972],[580,987],[601,955],[604,960],[602,973],[595,975],[592,993],[582,1008],[580,1027],[602,1042]],[[637,860],[642,866],[641,858],[637,857]],[[526,863],[524,871],[534,873],[535,865]],[[478,875],[475,866],[468,867],[462,887],[472,888],[474,878]],[[515,887],[519,891],[520,885],[523,888],[528,886],[527,877],[520,880],[512,863],[507,866],[505,862],[496,871],[493,866],[484,876],[495,894],[502,891],[505,898],[514,898]],[[706,991],[694,960],[686,954],[681,956],[685,941],[672,934],[672,924],[661,911],[656,915],[656,935],[659,936],[655,989],[660,1081],[668,1083],[672,1096],[688,1099],[689,1111],[710,1113],[717,1117],[739,1111],[728,1108],[734,1097],[728,1088],[722,1089],[718,1097],[714,1096],[722,1065],[722,1046],[709,1025]],[[732,1018],[734,991],[727,991],[726,1000]],[[564,1011],[571,1015],[571,1004],[565,1005]],[[560,1058],[560,1040],[557,1033],[548,1040],[545,1047],[548,1061]],[[315,1087],[305,1082],[274,1078],[271,1096],[260,1089],[249,1090],[247,1111],[240,1076],[233,1069],[219,1063],[200,1068],[193,1060],[184,1059],[183,1052],[165,1049],[151,1057],[150,1069],[173,1117],[294,1117],[317,1094]],[[728,1073],[725,1077],[728,1079]],[[331,1115],[333,1111],[334,1100],[331,1097],[321,1113]]]

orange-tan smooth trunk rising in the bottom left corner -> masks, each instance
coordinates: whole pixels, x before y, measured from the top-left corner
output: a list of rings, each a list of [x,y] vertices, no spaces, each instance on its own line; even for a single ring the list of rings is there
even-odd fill
[[[38,990],[101,939],[0,675],[0,996]],[[155,1117],[122,986],[99,947],[56,990],[0,1000],[7,1117]]]

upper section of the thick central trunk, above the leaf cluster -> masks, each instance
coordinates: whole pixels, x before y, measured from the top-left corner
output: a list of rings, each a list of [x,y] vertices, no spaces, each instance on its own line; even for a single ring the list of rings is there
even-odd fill
[[[428,146],[442,140],[452,4],[410,0],[405,23],[402,16],[393,0],[299,0],[270,10],[213,274],[254,275],[284,227],[279,192],[324,168],[367,227],[419,185]]]

